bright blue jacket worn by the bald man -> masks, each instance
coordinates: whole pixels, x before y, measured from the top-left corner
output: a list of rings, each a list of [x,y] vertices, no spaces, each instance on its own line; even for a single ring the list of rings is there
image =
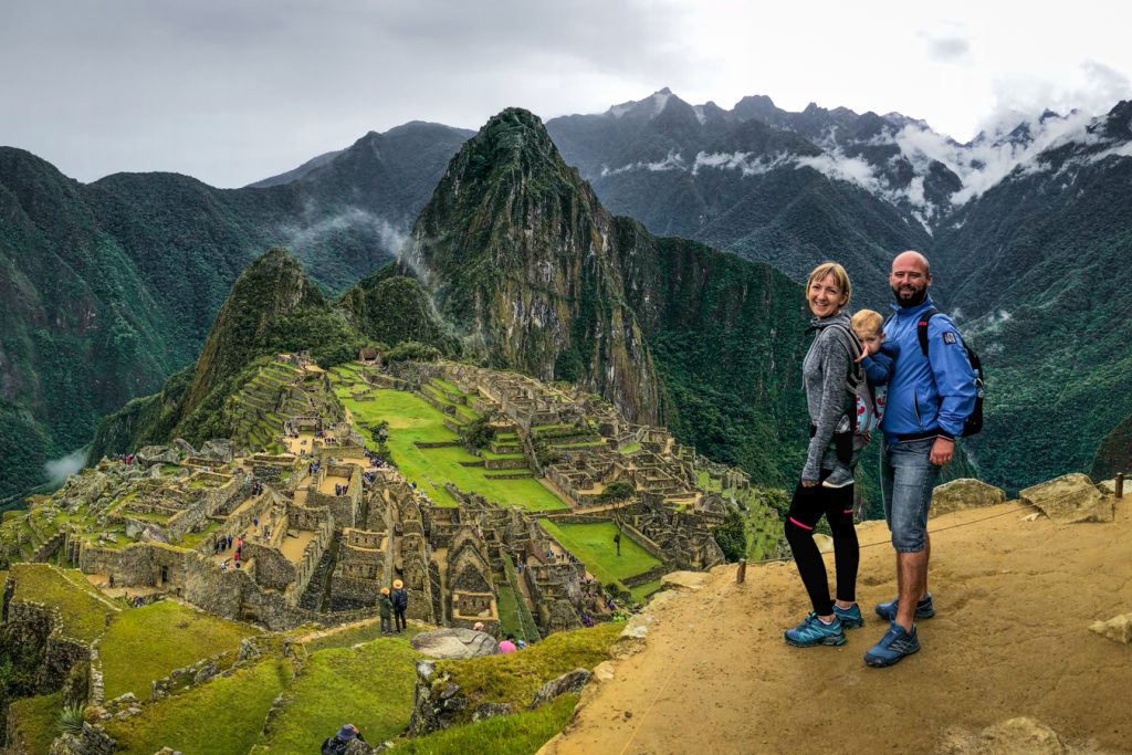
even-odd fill
[[[920,351],[916,327],[932,307],[931,298],[918,307],[893,304],[895,315],[884,324],[885,343],[900,349],[881,422],[890,441],[909,435],[958,437],[975,409],[975,370],[950,317],[940,314],[928,320],[928,357]]]

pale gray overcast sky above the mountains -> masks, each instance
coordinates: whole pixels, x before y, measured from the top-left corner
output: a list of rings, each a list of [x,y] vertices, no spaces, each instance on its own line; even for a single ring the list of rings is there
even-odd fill
[[[600,112],[663,86],[895,110],[966,141],[1007,110],[1132,98],[1130,22],[1097,0],[0,0],[0,145],[82,181],[235,187],[409,120]]]

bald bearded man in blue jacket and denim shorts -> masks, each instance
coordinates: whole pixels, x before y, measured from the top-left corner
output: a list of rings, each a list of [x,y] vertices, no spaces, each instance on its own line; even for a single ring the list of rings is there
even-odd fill
[[[897,551],[895,600],[876,614],[890,621],[887,632],[865,653],[865,662],[887,667],[919,651],[916,619],[935,616],[927,591],[931,541],[927,513],[940,469],[951,462],[955,438],[975,410],[975,370],[955,324],[932,303],[932,267],[918,251],[892,260],[889,285],[897,298],[884,325],[885,343],[899,354],[889,380],[881,430],[881,490],[884,518]],[[926,348],[919,329],[926,327]],[[926,352],[926,353],[925,353]]]

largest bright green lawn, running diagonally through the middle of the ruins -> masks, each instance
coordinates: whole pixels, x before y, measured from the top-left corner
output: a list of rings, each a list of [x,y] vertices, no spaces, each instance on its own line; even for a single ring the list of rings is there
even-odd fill
[[[341,379],[342,372],[333,372],[332,379]],[[349,372],[348,380],[352,379]],[[350,410],[353,423],[370,448],[376,445],[370,438],[370,428],[385,421],[389,423],[386,445],[393,463],[401,473],[439,506],[455,506],[456,500],[444,488],[452,482],[461,490],[479,495],[503,506],[515,506],[528,511],[555,511],[567,505],[534,478],[501,480],[489,477],[499,474],[479,464],[483,460],[469,454],[462,446],[444,448],[418,448],[421,443],[456,443],[460,437],[444,426],[445,414],[414,393],[387,388],[368,388],[367,400],[358,401],[353,392],[357,386],[335,385],[335,393],[342,404]],[[509,473],[524,470],[507,470]]]

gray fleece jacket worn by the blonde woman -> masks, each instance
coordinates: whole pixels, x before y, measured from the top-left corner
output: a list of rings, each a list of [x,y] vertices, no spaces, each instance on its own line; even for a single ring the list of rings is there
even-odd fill
[[[830,327],[834,324],[843,327]],[[801,362],[801,380],[806,386],[809,422],[816,430],[809,439],[801,479],[816,482],[821,470],[831,470],[837,462],[833,432],[846,415],[849,369],[859,352],[854,353],[857,344],[848,315],[815,319],[811,326],[816,328],[817,334]]]

